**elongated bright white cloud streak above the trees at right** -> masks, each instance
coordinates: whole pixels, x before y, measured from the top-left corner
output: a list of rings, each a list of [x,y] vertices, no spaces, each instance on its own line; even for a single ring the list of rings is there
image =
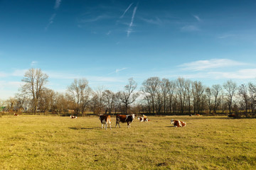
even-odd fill
[[[228,59],[212,59],[212,60],[198,60],[196,62],[189,62],[185,64],[179,65],[184,70],[191,70],[191,71],[202,71],[206,69],[215,69],[220,67],[234,67],[234,66],[241,66],[246,65],[243,62],[237,62],[234,60]]]

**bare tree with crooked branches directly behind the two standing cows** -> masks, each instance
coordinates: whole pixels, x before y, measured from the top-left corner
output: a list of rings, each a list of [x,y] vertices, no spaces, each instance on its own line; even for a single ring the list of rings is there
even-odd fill
[[[127,114],[128,106],[138,98],[139,93],[135,93],[134,90],[137,88],[137,83],[134,79],[129,78],[129,83],[124,86],[124,91],[119,92],[119,98],[124,103],[125,113]]]

